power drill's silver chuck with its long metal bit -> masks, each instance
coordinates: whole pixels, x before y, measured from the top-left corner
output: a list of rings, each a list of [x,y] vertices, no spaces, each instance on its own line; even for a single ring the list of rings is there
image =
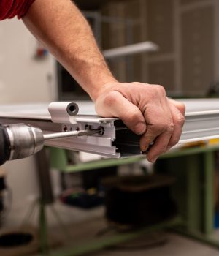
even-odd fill
[[[102,134],[101,128],[70,132],[43,134],[42,129],[27,124],[0,124],[0,165],[13,159],[30,157],[40,151],[46,140],[77,138],[78,136]]]

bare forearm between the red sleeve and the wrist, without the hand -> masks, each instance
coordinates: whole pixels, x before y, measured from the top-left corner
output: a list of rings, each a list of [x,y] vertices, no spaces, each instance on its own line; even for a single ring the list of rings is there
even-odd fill
[[[101,86],[115,81],[90,26],[70,0],[36,0],[23,22],[92,99]]]

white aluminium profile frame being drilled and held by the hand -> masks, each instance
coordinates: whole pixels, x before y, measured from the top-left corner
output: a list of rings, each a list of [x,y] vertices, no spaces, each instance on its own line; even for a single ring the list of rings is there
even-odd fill
[[[179,143],[209,140],[219,137],[219,99],[178,99],[185,103],[185,125]],[[77,151],[87,151],[108,157],[128,157],[141,154],[139,136],[126,129],[118,118],[96,116],[93,102],[77,102],[77,116],[53,123],[48,104],[0,105],[1,124],[25,123],[41,128],[45,133],[87,126],[104,127],[104,135],[83,136],[51,140],[48,146],[56,146]]]

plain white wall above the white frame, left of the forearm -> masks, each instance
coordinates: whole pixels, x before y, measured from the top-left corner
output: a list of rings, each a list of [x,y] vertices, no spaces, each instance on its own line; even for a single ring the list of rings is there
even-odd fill
[[[36,43],[22,20],[0,22],[0,104],[54,99],[54,60],[34,59]]]

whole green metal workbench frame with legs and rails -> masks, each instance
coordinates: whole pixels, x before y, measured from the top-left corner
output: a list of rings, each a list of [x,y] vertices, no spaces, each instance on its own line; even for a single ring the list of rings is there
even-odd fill
[[[50,151],[50,168],[61,170],[65,173],[73,173],[84,170],[92,170],[94,168],[102,168],[109,166],[126,165],[134,162],[139,162],[145,157],[131,157],[127,159],[101,159],[99,161],[86,162],[79,165],[69,165],[66,157],[66,151],[61,148],[48,147]],[[162,155],[158,159],[159,162],[164,162],[164,165],[169,166],[185,166],[186,170],[182,170],[182,173],[186,173],[184,181],[187,184],[186,187],[186,212],[180,214],[180,217],[173,219],[170,222],[161,223],[160,225],[154,225],[153,227],[147,227],[143,230],[139,230],[134,233],[123,233],[112,236],[110,238],[101,239],[98,242],[85,244],[84,246],[75,247],[73,249],[64,250],[53,253],[54,256],[73,256],[82,255],[94,250],[99,250],[110,244],[118,244],[121,241],[128,241],[131,238],[137,238],[142,233],[151,232],[154,230],[161,230],[164,228],[171,228],[177,233],[181,233],[185,236],[189,236],[198,241],[201,241],[210,246],[215,246],[219,249],[219,240],[212,237],[214,230],[214,193],[213,193],[213,177],[214,177],[214,152],[219,150],[219,145],[204,146],[196,148],[183,148],[176,151],[170,151]],[[200,166],[201,156],[201,166]],[[158,167],[155,165],[155,170]],[[171,169],[171,168],[170,168]],[[174,171],[176,174],[177,171]],[[180,173],[180,172],[179,172]],[[200,177],[203,179],[203,184],[199,183]],[[200,194],[201,191],[201,194]],[[178,200],[185,197],[180,195]],[[181,208],[181,210],[183,207]],[[185,210],[184,210],[185,211]],[[41,246],[44,255],[48,255],[47,250],[47,219],[45,214],[45,206],[40,205],[39,214],[39,227],[41,234]],[[51,255],[51,254],[50,254]]]

